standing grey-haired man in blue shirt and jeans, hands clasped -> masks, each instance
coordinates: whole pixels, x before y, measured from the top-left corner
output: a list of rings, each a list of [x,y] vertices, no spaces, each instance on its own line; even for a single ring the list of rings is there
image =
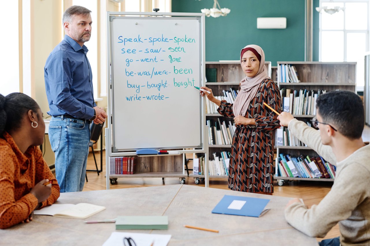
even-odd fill
[[[44,68],[48,98],[49,140],[55,153],[60,192],[82,191],[90,141],[90,123],[107,114],[94,102],[92,72],[84,42],[90,40],[91,11],[72,6],[63,14],[64,40],[50,53]]]

